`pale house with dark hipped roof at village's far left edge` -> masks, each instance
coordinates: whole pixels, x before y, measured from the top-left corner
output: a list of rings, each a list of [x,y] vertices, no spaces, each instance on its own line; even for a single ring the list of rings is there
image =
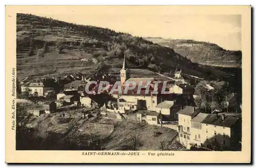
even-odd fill
[[[55,90],[58,87],[58,84],[55,83],[54,79],[43,78],[43,79],[35,79],[28,83],[25,83],[21,86],[22,92],[29,88],[31,94],[35,94],[36,96],[44,96],[44,93],[47,90]]]

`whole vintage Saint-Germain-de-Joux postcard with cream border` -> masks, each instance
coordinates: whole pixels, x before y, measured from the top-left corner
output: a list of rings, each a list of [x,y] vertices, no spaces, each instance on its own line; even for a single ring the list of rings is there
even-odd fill
[[[6,6],[6,163],[250,163],[251,6]]]

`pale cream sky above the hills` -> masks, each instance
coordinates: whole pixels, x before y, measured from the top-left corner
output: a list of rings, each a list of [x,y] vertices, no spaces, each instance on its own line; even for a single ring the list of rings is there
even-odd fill
[[[196,14],[184,14],[166,7],[148,8],[147,6],[134,8],[80,6],[63,7],[58,10],[48,7],[44,11],[21,11],[23,12],[79,25],[109,28],[134,36],[193,39],[216,43],[226,50],[242,48],[241,15],[196,12]]]

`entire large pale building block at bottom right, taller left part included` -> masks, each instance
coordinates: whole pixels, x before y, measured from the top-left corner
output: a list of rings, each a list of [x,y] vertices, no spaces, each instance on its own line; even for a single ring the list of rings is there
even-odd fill
[[[187,106],[178,112],[179,141],[186,148],[215,151],[239,151],[242,135],[241,118],[225,114],[206,114]]]

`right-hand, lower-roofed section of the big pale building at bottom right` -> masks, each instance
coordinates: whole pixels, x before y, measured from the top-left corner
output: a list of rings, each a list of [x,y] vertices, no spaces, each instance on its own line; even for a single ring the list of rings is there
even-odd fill
[[[241,119],[225,114],[209,114],[201,122],[201,147],[215,151],[241,150]]]

